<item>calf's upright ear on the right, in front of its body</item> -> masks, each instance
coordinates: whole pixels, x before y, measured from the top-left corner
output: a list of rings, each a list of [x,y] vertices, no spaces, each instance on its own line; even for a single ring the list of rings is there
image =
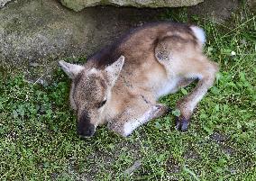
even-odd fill
[[[121,56],[113,64],[105,68],[107,79],[111,86],[114,86],[122,68],[123,68],[124,57]]]

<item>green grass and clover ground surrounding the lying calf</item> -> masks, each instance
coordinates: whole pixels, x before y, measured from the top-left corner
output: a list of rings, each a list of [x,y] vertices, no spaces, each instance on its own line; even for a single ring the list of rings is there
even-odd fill
[[[241,11],[229,25],[194,17],[221,70],[185,133],[169,114],[128,138],[101,127],[81,140],[60,69],[49,86],[1,78],[0,180],[256,180],[256,17]],[[174,107],[190,89],[160,102]]]

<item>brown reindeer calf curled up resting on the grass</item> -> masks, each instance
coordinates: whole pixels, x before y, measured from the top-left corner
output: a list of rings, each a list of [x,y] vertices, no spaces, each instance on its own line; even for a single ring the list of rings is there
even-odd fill
[[[91,137],[96,127],[130,135],[169,111],[160,96],[176,93],[198,79],[177,103],[176,128],[186,131],[198,102],[213,86],[218,66],[203,54],[205,32],[182,23],[150,23],[96,52],[86,64],[59,61],[72,79],[70,104],[77,112],[78,134]]]

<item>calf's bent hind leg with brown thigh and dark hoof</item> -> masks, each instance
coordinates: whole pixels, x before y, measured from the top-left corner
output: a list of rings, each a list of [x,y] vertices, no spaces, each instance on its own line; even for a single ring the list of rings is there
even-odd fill
[[[207,90],[213,86],[215,73],[218,71],[215,62],[209,61],[200,49],[180,37],[165,37],[159,41],[155,50],[155,57],[166,68],[169,79],[180,80],[171,93],[190,84],[191,79],[199,80],[192,92],[177,103],[180,116],[177,118],[176,128],[180,131],[187,130],[195,107],[206,95]]]

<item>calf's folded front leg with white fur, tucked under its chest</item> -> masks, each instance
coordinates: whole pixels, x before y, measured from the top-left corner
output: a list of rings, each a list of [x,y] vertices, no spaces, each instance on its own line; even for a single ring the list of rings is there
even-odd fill
[[[137,106],[125,110],[113,122],[108,123],[108,128],[126,137],[142,124],[169,112],[169,108],[162,104],[152,105],[143,113],[138,113],[138,110],[140,110],[140,107]]]

